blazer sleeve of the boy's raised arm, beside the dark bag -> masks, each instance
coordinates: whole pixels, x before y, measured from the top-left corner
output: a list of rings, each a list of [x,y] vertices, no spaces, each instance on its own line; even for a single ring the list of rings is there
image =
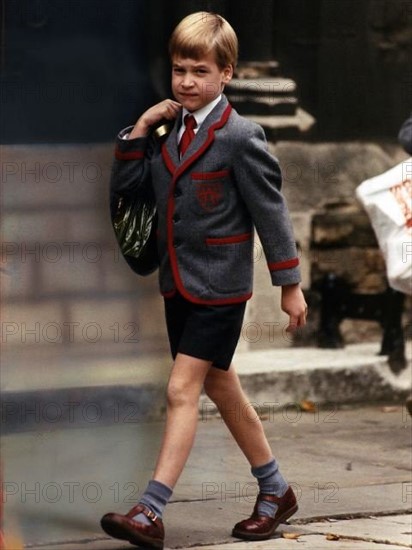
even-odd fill
[[[153,139],[148,137],[125,139],[133,126],[116,137],[114,162],[110,178],[110,205],[113,210],[122,195],[151,193],[150,157]]]

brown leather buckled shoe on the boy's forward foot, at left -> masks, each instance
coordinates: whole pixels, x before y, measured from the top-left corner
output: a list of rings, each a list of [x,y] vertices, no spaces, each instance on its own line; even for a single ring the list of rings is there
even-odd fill
[[[150,519],[150,525],[133,519],[140,513]],[[115,539],[127,540],[131,544],[146,548],[163,548],[165,538],[163,522],[143,504],[137,504],[125,516],[115,513],[106,514],[102,517],[100,524],[103,531]]]

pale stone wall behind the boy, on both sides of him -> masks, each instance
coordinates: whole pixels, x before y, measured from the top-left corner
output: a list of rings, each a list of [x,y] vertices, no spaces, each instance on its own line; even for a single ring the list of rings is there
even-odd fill
[[[282,166],[307,290],[311,224],[319,206],[325,200],[353,198],[362,180],[405,155],[398,147],[372,143],[279,142],[271,147]],[[1,338],[6,368],[22,362],[87,368],[90,361],[112,361],[115,367],[122,359],[135,362],[168,353],[157,276],[134,275],[119,257],[113,236],[108,214],[112,152],[112,144],[1,149]],[[258,242],[255,269],[255,294],[239,351],[290,346],[279,289],[270,285]],[[310,344],[317,329],[313,297],[312,306],[303,338]],[[359,330],[345,334],[356,341]],[[377,328],[368,335],[380,337]]]

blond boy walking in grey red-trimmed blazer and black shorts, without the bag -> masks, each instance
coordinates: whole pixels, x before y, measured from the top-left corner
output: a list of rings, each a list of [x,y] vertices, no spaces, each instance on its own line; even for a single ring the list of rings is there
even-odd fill
[[[170,41],[175,100],[151,107],[117,138],[112,194],[155,193],[159,283],[174,364],[153,479],[127,515],[106,514],[101,524],[113,537],[150,548],[163,548],[162,513],[193,444],[203,387],[259,484],[252,516],[233,535],[267,539],[297,510],[258,415],[230,413],[248,404],[231,361],[252,295],[254,226],[272,282],[282,286],[289,330],[305,324],[307,311],[278,163],[263,130],[223,95],[237,52],[236,34],[221,16],[183,19]],[[164,119],[175,123],[161,146],[151,129]]]

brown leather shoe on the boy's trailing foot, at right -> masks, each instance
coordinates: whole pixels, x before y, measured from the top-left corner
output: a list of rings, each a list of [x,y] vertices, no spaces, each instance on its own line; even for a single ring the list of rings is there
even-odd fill
[[[258,504],[262,500],[275,502],[278,505],[274,518],[260,516],[258,514]],[[297,509],[296,497],[291,487],[288,488],[283,497],[260,493],[257,497],[252,515],[250,518],[237,523],[233,528],[232,535],[239,539],[266,540],[273,535],[281,523],[290,518],[290,516],[293,516]]]

